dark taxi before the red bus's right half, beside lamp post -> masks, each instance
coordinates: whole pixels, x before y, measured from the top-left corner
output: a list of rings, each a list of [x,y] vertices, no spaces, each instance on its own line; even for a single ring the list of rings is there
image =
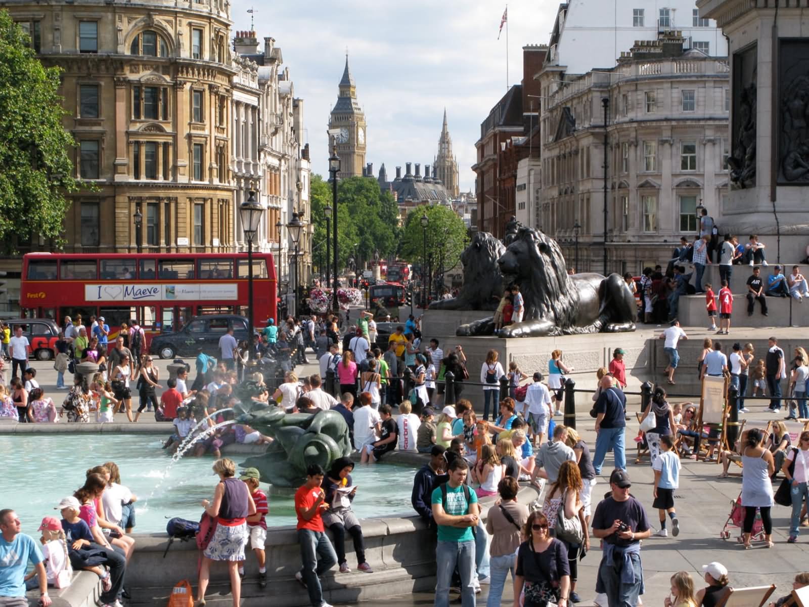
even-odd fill
[[[152,337],[149,353],[163,360],[194,358],[199,348],[205,354],[219,358],[219,337],[233,327],[237,342],[248,338],[248,319],[235,314],[205,314],[194,316],[182,329],[174,333],[161,333]]]

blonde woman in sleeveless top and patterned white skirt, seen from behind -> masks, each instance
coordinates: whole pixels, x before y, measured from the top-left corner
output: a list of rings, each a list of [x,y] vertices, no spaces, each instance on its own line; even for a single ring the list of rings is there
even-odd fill
[[[239,607],[242,580],[239,577],[239,561],[244,561],[244,545],[248,541],[247,517],[256,514],[250,490],[244,482],[235,478],[236,465],[227,457],[214,461],[214,473],[219,482],[214,490],[214,501],[202,500],[205,514],[217,520],[214,537],[202,552],[197,605],[205,605],[205,590],[210,579],[210,564],[227,562],[231,577],[233,607]]]

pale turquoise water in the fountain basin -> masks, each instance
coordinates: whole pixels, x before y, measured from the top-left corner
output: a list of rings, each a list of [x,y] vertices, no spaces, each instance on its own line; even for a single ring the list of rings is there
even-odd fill
[[[211,499],[216,477],[211,456],[184,456],[173,465],[161,448],[163,435],[0,435],[6,473],[0,475],[0,508],[14,508],[23,532],[38,537],[43,516],[59,516],[53,508],[84,482],[85,471],[115,461],[121,481],[141,500],[136,504],[135,533],[165,532],[172,516],[197,520],[201,499]],[[244,455],[231,456],[235,461]],[[354,511],[358,516],[413,513],[410,490],[415,469],[394,465],[357,465]],[[262,483],[262,489],[268,491]],[[394,489],[395,488],[395,489]],[[152,495],[153,494],[153,495]],[[150,496],[151,495],[151,496]],[[146,501],[146,499],[148,500]],[[285,490],[269,488],[269,525],[295,523],[293,499]]]

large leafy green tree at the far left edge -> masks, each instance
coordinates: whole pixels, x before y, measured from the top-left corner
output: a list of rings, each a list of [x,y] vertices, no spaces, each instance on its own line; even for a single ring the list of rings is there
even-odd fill
[[[44,236],[61,242],[70,202],[79,189],[61,120],[57,67],[45,68],[28,35],[0,11],[0,240]]]

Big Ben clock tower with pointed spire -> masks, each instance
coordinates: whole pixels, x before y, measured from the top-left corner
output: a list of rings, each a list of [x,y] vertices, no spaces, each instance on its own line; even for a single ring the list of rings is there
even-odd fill
[[[354,77],[349,70],[349,56],[346,54],[340,92],[328,120],[329,129],[340,130],[338,134],[332,135],[329,141],[329,146],[337,146],[337,155],[340,156],[338,176],[362,175],[362,169],[365,168],[365,126],[365,114],[357,102],[357,87],[354,85]],[[332,155],[331,147],[328,155]]]

